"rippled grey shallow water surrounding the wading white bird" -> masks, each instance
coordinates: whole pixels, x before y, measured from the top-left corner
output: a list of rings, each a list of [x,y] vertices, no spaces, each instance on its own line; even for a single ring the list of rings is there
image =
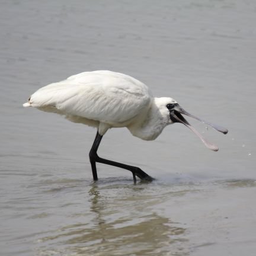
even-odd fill
[[[255,255],[254,1],[2,1],[1,255]],[[22,104],[82,71],[135,76],[229,129],[113,129],[99,155],[156,178],[133,184],[88,152],[95,130]]]

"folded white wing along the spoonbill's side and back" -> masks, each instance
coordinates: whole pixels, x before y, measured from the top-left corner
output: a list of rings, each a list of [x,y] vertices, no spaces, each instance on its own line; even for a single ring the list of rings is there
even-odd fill
[[[121,123],[137,116],[151,104],[152,95],[145,84],[122,73],[83,72],[64,81],[47,85],[30,98],[33,107],[54,108],[105,123]]]

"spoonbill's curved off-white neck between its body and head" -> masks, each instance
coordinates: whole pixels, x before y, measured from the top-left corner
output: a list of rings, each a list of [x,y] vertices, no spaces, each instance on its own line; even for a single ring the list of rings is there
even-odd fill
[[[136,121],[127,128],[133,136],[143,140],[154,140],[158,137],[168,121],[162,116],[157,106],[158,98],[152,100],[151,107],[137,116]]]

